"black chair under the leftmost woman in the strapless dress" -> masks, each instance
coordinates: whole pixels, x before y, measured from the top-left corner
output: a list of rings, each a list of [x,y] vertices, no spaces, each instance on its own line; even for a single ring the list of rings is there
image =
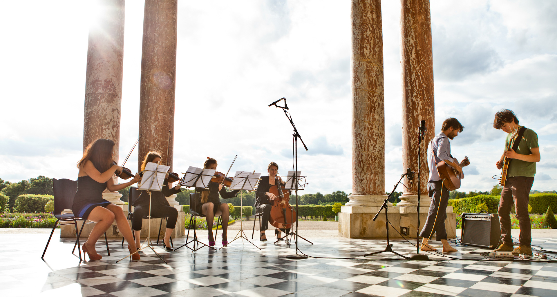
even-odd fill
[[[74,244],[74,249],[71,252],[72,254],[74,254],[75,247],[77,246],[77,250],[79,250],[79,260],[81,261],[82,260],[81,245],[79,242],[79,235],[81,235],[81,230],[79,233],[77,232],[77,221],[84,221],[84,224],[81,226],[81,229],[83,229],[83,226],[85,224],[91,224],[92,222],[85,222],[86,219],[82,219],[81,217],[76,217],[74,216],[73,213],[62,214],[62,211],[64,211],[65,209],[71,209],[72,205],[74,204],[74,196],[75,193],[77,192],[77,181],[73,181],[69,179],[60,179],[60,180],[53,179],[52,182],[53,182],[53,189],[54,189],[54,216],[56,217],[57,220],[54,223],[54,226],[52,226],[52,231],[50,232],[50,237],[48,237],[48,241],[46,242],[45,250],[42,252],[41,259],[45,258],[46,249],[48,249],[48,244],[50,244],[50,240],[52,239],[52,234],[54,233],[54,229],[56,229],[57,226],[74,224],[75,232],[76,232],[76,240]],[[60,222],[70,222],[70,221],[73,221],[73,223],[59,224]],[[106,251],[110,256],[110,250],[108,248],[108,239],[106,238],[106,232],[105,232],[105,243],[106,243]]]

